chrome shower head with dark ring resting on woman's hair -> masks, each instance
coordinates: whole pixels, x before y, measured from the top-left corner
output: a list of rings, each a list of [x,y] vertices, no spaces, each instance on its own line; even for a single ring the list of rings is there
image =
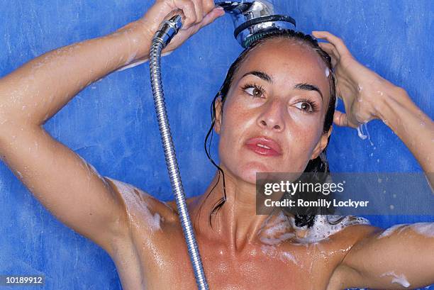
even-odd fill
[[[235,28],[233,35],[243,48],[269,31],[296,26],[294,18],[279,14],[276,7],[265,0],[218,1],[216,5],[230,13]]]

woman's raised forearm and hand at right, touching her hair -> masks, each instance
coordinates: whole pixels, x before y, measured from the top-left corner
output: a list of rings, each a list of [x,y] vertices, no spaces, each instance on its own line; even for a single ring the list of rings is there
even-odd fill
[[[408,147],[434,187],[434,122],[413,103],[407,92],[361,65],[343,41],[326,31],[314,31],[332,57],[345,113],[335,112],[338,126],[357,128],[374,118],[381,119]]]

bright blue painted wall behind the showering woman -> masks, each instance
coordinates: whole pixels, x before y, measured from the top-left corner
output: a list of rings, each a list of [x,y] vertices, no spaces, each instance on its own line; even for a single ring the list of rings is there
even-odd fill
[[[111,33],[142,16],[151,4],[0,0],[0,77],[49,50]],[[343,38],[362,64],[404,87],[433,118],[434,1],[280,0],[274,4],[293,16],[305,33],[329,30]],[[189,196],[204,192],[215,172],[203,149],[209,105],[240,51],[233,24],[224,16],[162,60],[169,120]],[[148,64],[140,65],[91,84],[45,128],[101,174],[169,200],[148,69]],[[368,123],[368,128],[374,145],[358,138],[356,130],[333,130],[328,149],[332,171],[421,171],[381,121]],[[216,144],[214,139],[214,148]],[[371,218],[382,227],[433,220],[433,216]],[[110,257],[45,211],[3,163],[0,237],[0,274],[45,274],[45,289],[121,289]]]

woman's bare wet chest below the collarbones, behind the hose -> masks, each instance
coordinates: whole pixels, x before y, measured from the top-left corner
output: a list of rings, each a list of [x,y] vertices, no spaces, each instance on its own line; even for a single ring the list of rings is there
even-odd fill
[[[182,233],[136,235],[118,263],[123,289],[196,289]],[[325,289],[335,265],[309,247],[250,245],[234,254],[198,238],[210,289]],[[113,259],[115,260],[115,259]]]

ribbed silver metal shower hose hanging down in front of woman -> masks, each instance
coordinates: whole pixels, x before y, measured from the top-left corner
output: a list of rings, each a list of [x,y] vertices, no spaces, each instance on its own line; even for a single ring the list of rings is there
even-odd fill
[[[194,236],[194,230],[191,225],[187,203],[185,201],[184,188],[182,187],[181,176],[179,174],[177,157],[175,155],[172,135],[170,133],[169,121],[165,105],[165,97],[162,89],[160,60],[162,49],[177,33],[182,26],[181,16],[172,17],[169,21],[164,21],[152,40],[150,48],[150,77],[152,85],[152,94],[154,97],[155,112],[157,113],[158,126],[162,145],[165,150],[166,165],[169,171],[172,191],[177,202],[179,220],[181,221],[184,238],[187,242],[190,261],[194,270],[194,277],[199,290],[208,290],[208,283],[202,266],[201,256]]]

